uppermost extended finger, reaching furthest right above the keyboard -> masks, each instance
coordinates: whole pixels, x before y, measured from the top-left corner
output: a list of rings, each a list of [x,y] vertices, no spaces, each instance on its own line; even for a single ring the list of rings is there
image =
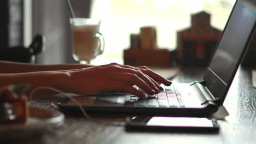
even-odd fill
[[[153,70],[143,66],[143,67],[138,67],[144,74],[147,74],[148,76],[150,76],[152,79],[154,79],[155,81],[161,82],[166,86],[170,86],[172,84],[171,81],[165,79],[164,77],[162,77],[161,75],[155,73]]]

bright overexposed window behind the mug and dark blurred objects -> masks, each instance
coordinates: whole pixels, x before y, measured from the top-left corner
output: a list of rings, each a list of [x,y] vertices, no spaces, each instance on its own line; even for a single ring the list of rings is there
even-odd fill
[[[158,47],[176,49],[176,33],[190,26],[190,15],[205,10],[211,25],[223,30],[235,0],[92,0],[91,17],[101,19],[106,49],[95,61],[119,62],[130,47],[130,34],[156,26]],[[93,62],[92,62],[93,63]]]

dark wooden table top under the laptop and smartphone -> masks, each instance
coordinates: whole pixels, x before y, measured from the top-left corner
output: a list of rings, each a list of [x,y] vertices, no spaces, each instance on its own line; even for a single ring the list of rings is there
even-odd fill
[[[183,68],[173,79],[177,82],[201,80],[202,68]],[[48,99],[49,101],[53,99]],[[52,107],[48,102],[34,104]],[[84,117],[66,116],[60,128],[46,133],[12,140],[19,143],[256,143],[256,90],[251,70],[240,68],[224,101],[230,116],[220,124],[219,133],[127,132],[124,125],[95,123]],[[0,142],[2,143],[2,142]]]

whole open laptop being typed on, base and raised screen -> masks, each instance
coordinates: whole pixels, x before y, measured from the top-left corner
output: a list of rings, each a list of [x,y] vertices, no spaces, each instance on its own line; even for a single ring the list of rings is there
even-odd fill
[[[231,11],[202,82],[173,83],[147,98],[109,92],[72,95],[87,112],[152,115],[211,115],[223,105],[236,71],[254,36],[256,1],[238,0]],[[143,92],[142,89],[139,91]],[[59,104],[64,112],[80,112],[72,101]]]

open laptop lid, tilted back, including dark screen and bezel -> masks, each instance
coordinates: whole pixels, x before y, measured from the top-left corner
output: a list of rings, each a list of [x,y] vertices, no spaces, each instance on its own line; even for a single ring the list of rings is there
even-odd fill
[[[238,0],[203,76],[206,87],[223,104],[226,93],[254,35],[256,1]]]

